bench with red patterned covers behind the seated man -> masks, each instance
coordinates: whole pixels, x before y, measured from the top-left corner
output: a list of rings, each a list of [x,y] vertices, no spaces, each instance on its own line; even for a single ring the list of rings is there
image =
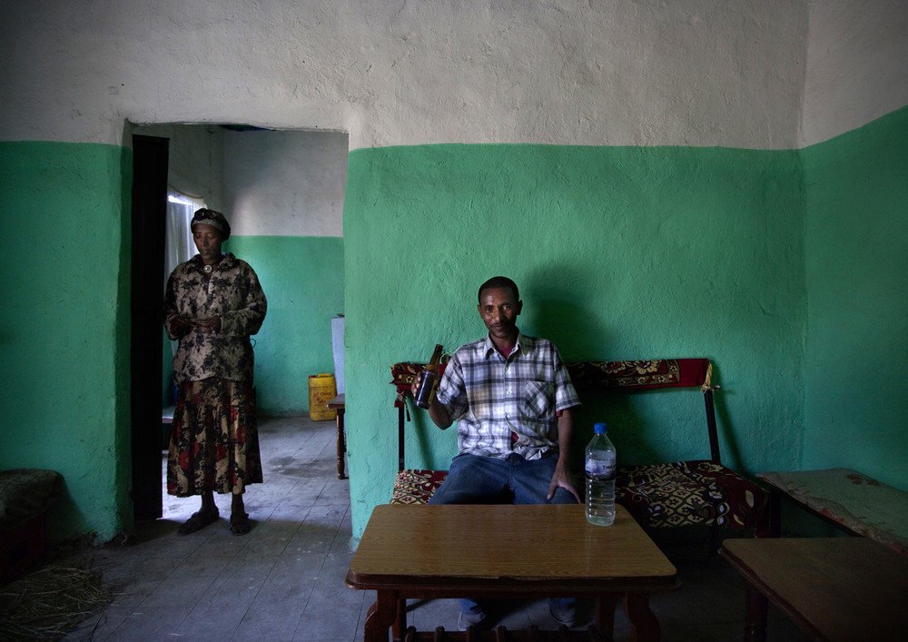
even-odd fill
[[[769,534],[768,495],[754,482],[726,468],[719,457],[716,412],[711,382],[712,366],[706,359],[648,361],[569,362],[568,370],[577,393],[602,390],[636,392],[660,388],[694,388],[704,399],[710,457],[689,461],[619,467],[617,501],[645,528],[710,526],[754,530],[758,537]],[[422,364],[401,362],[391,367],[397,390],[398,474],[392,504],[419,504],[429,500],[447,470],[407,469],[404,440],[407,396]]]

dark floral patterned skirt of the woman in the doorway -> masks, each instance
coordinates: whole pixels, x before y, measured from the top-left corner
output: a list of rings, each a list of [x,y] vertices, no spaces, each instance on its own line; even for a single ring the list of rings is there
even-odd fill
[[[252,382],[212,378],[184,381],[178,388],[167,494],[239,495],[247,484],[262,483]]]

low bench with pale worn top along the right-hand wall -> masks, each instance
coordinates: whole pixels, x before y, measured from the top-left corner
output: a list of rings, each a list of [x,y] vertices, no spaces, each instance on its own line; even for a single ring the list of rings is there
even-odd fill
[[[782,499],[841,528],[908,556],[908,493],[852,469],[764,472],[771,486],[770,528],[781,535]]]

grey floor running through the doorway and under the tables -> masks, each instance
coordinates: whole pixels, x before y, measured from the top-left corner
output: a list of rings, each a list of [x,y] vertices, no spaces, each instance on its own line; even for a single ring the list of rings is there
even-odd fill
[[[176,528],[198,499],[164,495],[163,518],[140,525],[126,545],[77,553],[103,572],[114,602],[64,639],[74,640],[342,640],[362,639],[374,593],[346,588],[350,565],[349,481],[337,479],[333,421],[262,420],[265,483],[250,487],[246,509],[255,526],[243,537],[221,519],[188,536]],[[666,552],[667,549],[666,549]],[[675,558],[681,588],[651,598],[668,641],[742,639],[745,584],[722,558]],[[457,602],[410,602],[408,623],[457,630]],[[498,624],[556,629],[545,600],[503,602]],[[589,605],[578,604],[578,627]],[[629,638],[620,608],[615,638]],[[769,640],[807,639],[770,607]]]

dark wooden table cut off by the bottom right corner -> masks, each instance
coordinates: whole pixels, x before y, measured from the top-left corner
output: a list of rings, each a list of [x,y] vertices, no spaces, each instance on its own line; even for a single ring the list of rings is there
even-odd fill
[[[765,640],[767,600],[818,640],[896,640],[908,631],[908,558],[867,538],[725,539],[748,582],[745,640]]]

